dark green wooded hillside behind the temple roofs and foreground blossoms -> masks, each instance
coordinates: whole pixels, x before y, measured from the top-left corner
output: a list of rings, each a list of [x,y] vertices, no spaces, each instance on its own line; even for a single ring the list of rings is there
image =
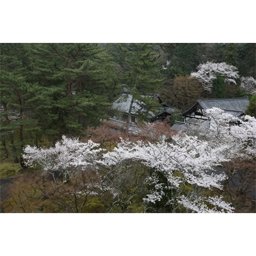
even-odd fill
[[[244,96],[241,77],[256,78],[255,45],[1,44],[5,154],[17,162],[28,143],[52,145],[63,134],[83,136],[84,129],[108,118],[111,101],[124,86],[134,99],[136,92],[156,92],[182,111],[198,98],[216,97],[189,77],[207,61],[234,65],[239,79],[224,84],[222,95]]]

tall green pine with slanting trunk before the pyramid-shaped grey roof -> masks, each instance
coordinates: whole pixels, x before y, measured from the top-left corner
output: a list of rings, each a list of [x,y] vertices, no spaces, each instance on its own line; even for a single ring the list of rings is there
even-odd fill
[[[147,93],[159,92],[164,78],[160,72],[159,54],[154,51],[154,44],[128,44],[127,47],[118,45],[120,51],[129,63],[129,71],[126,72],[126,83],[132,94],[127,123],[131,120],[132,104],[138,100],[145,112],[138,111],[142,121],[148,120],[148,113],[156,111],[159,103],[147,96]]]

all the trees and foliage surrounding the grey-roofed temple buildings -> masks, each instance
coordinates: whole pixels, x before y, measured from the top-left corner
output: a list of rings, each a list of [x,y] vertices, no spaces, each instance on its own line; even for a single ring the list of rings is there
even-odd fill
[[[255,212],[256,44],[0,51],[1,212]],[[177,115],[138,111],[132,134],[109,121],[124,90],[154,113],[156,93]],[[196,100],[238,97],[250,100],[243,118],[210,109],[216,129],[173,131]]]

